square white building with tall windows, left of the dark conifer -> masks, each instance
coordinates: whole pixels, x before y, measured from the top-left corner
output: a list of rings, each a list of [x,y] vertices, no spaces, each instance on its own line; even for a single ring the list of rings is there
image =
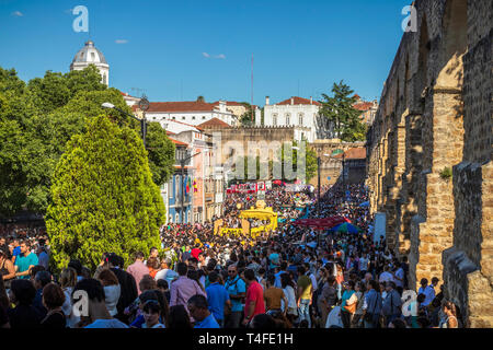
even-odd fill
[[[308,142],[317,139],[316,118],[319,114],[320,103],[302,97],[291,97],[289,100],[271,105],[270,97],[265,97],[264,126],[266,127],[300,127],[308,128],[301,137]],[[260,115],[255,118],[255,124],[261,126]]]

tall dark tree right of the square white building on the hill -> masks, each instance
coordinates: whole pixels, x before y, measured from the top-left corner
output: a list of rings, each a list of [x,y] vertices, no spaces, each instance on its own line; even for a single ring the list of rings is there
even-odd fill
[[[336,137],[343,141],[354,142],[366,139],[366,125],[359,120],[360,112],[353,106],[356,98],[354,91],[343,81],[332,86],[333,97],[322,94],[320,114],[334,126]]]

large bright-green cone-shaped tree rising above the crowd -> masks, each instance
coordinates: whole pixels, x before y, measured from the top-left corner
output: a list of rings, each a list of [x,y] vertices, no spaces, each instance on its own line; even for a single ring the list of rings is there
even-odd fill
[[[50,190],[46,226],[57,270],[70,258],[94,269],[104,252],[129,262],[133,252],[159,246],[164,205],[135,130],[104,115],[89,120],[68,142]]]

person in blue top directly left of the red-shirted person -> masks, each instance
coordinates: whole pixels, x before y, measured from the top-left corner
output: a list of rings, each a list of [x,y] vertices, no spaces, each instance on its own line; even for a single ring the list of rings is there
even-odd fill
[[[244,306],[242,300],[246,296],[246,284],[238,276],[238,269],[233,265],[228,267],[228,280],[225,288],[231,300],[231,315],[228,317],[226,328],[240,328],[241,313]]]

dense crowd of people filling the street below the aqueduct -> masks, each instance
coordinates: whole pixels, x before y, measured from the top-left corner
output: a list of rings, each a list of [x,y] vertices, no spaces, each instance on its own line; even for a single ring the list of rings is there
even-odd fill
[[[95,271],[71,260],[49,270],[46,235],[0,238],[0,327],[26,328],[457,328],[460,311],[437,277],[413,293],[409,264],[374,237],[363,184],[312,192],[276,187],[264,201],[278,228],[255,237],[217,235],[214,221],[167,224],[161,246],[133,262],[105,253]],[[237,223],[254,194],[228,195]],[[305,203],[305,208],[300,205]],[[308,205],[307,205],[308,203]],[[359,233],[314,231],[291,220],[341,215]],[[81,295],[87,307],[79,312]],[[410,296],[411,295],[411,296]]]

